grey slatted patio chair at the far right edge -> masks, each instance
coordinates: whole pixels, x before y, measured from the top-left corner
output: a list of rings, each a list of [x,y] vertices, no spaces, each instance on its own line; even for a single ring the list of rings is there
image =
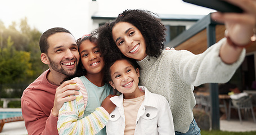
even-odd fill
[[[241,124],[242,124],[241,109],[244,110],[244,115],[246,115],[246,113],[249,113],[248,111],[251,110],[251,114],[253,116],[253,121],[254,121],[254,123],[256,123],[254,111],[253,111],[253,105],[251,103],[251,96],[241,97],[237,100],[234,100],[234,99],[230,100],[230,104],[228,107],[228,120],[230,120],[231,108],[237,109],[238,115],[239,115],[239,120],[240,120]]]

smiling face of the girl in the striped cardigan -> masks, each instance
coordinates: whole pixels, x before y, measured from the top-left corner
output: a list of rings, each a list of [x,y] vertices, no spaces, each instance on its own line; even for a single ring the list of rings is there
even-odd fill
[[[84,40],[79,47],[80,59],[83,68],[86,69],[88,74],[98,74],[104,68],[104,60],[96,44],[89,40]]]

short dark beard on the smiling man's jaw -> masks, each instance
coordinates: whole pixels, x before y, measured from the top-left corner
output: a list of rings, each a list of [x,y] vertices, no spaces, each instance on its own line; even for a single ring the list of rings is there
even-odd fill
[[[60,66],[60,69],[58,69],[58,65],[61,65],[61,64],[58,64],[58,63],[52,61],[50,58],[49,58],[49,61],[50,61],[52,70],[55,70],[61,74],[64,74],[67,77],[71,77],[72,75],[75,74],[75,71],[77,71],[77,65],[75,65],[75,69],[65,70],[64,68],[62,68],[62,66]]]

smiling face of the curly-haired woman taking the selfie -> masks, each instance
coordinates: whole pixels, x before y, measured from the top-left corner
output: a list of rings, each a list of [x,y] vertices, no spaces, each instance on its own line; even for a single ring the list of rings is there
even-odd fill
[[[145,39],[136,26],[128,22],[118,22],[112,29],[113,39],[123,55],[141,61],[146,54]]]

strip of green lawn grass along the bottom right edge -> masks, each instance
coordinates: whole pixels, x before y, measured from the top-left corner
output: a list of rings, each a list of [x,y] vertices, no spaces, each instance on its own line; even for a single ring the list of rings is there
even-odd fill
[[[255,135],[256,131],[251,132],[228,132],[228,131],[201,131],[202,135]]]

